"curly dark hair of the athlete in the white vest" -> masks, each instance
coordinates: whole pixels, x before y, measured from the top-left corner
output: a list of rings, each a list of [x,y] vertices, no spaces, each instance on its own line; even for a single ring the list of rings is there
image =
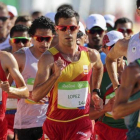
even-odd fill
[[[29,28],[29,35],[33,36],[36,29],[50,29],[55,34],[55,24],[47,17],[41,16],[35,19]]]

